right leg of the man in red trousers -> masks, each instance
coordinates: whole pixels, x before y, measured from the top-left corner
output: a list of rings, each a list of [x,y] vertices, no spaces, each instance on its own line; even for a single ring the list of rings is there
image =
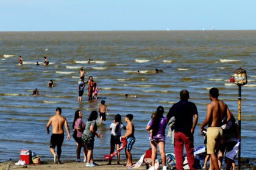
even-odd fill
[[[190,169],[196,169],[194,165],[194,137],[193,134],[185,135],[183,134],[183,141],[185,144],[186,152],[187,152],[187,160],[188,160],[188,166],[190,166]]]

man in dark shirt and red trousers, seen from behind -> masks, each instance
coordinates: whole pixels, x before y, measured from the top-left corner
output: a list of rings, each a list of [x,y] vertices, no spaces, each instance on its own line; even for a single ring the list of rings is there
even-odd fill
[[[196,104],[188,101],[190,94],[188,90],[180,91],[180,101],[169,109],[168,120],[175,117],[174,127],[174,153],[176,157],[176,168],[183,169],[183,147],[187,151],[188,166],[196,169],[194,165],[194,129],[196,128],[198,113]],[[194,118],[193,118],[194,117]]]

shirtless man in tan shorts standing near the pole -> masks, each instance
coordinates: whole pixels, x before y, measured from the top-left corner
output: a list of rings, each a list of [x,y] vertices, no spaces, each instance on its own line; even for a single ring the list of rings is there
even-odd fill
[[[218,100],[219,90],[215,87],[210,89],[209,97],[212,103],[207,105],[207,114],[204,122],[201,125],[201,132],[208,124],[207,129],[207,154],[210,155],[211,166],[213,169],[219,170],[218,159],[216,153],[222,138],[221,121],[227,117],[227,122],[230,120],[230,111],[223,101]]]

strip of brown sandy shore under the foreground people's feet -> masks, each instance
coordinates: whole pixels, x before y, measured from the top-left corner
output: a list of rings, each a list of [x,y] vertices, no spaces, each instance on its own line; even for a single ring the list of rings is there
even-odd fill
[[[127,169],[125,165],[126,160],[121,160],[121,165],[117,165],[116,160],[112,160],[112,165],[107,165],[107,160],[102,159],[96,159],[96,163],[99,164],[99,166],[94,167],[88,167],[89,169],[104,169],[104,170],[110,170],[110,169]],[[138,160],[133,160],[133,164],[135,164]],[[237,161],[237,160],[236,160]],[[80,169],[80,168],[87,168],[85,166],[85,162],[75,162],[75,160],[63,160],[63,164],[55,164],[53,160],[43,160],[41,162],[41,165],[15,165],[14,160],[10,161],[4,161],[0,163],[0,169],[17,169],[17,168],[29,168],[29,169]],[[209,165],[208,165],[209,166]],[[222,165],[222,168],[224,168],[225,164]],[[236,165],[237,168],[237,165]],[[143,163],[140,168],[134,168],[134,169],[146,169],[146,165]],[[241,169],[256,169],[256,158],[241,158]]]

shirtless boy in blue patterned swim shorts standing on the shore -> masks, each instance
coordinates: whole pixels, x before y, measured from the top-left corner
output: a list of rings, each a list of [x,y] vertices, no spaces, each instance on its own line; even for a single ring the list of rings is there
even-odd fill
[[[132,123],[132,114],[126,115],[126,134],[122,136],[121,138],[126,138],[127,139],[127,144],[126,144],[126,159],[127,163],[126,166],[132,166],[132,154],[130,151],[132,150],[132,145],[135,143],[135,137],[134,137],[134,126]]]

